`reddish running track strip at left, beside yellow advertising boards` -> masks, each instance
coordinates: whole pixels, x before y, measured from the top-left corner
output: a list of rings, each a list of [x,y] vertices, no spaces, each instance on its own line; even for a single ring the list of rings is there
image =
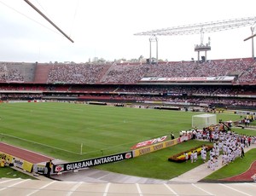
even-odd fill
[[[8,153],[16,158],[26,160],[32,164],[39,164],[42,162],[49,161],[49,159],[52,159],[42,154],[33,153],[31,151],[22,149],[20,147],[14,147],[3,142],[0,142],[0,152]]]

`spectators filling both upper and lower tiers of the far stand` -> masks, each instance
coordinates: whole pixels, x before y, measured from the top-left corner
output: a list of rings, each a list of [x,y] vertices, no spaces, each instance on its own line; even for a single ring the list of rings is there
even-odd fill
[[[160,62],[158,65],[52,64],[47,65],[50,67],[48,80],[42,85],[18,85],[25,82],[26,72],[21,72],[22,66],[24,66],[22,63],[0,62],[0,82],[2,82],[0,90],[63,91],[124,101],[168,101],[173,104],[202,103],[256,107],[255,99],[251,98],[253,97],[251,95],[256,94],[254,86],[131,85],[137,84],[143,77],[205,77],[232,74],[238,76],[238,82],[253,82],[256,81],[256,61],[252,58],[207,61],[200,64],[195,61]],[[12,85],[15,83],[17,85]],[[9,96],[5,95],[5,97]],[[20,97],[23,95],[20,94]]]

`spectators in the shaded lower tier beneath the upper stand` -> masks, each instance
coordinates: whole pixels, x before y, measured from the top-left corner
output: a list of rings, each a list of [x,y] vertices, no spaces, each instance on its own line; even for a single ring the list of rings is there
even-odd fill
[[[0,84],[2,95],[10,94],[8,91],[20,92],[20,97],[27,93],[38,91],[44,94],[62,96],[75,95],[90,99],[122,100],[122,101],[166,101],[166,104],[177,105],[218,105],[230,107],[256,107],[255,99],[249,99],[256,94],[253,87],[207,87],[207,86],[142,86],[142,85],[72,85],[72,84]],[[5,92],[7,91],[7,92]],[[15,92],[14,92],[15,93]],[[236,97],[240,95],[240,97]],[[244,95],[245,99],[242,99]],[[11,96],[11,95],[9,95]],[[5,97],[9,97],[5,96]],[[16,95],[15,95],[16,96]]]

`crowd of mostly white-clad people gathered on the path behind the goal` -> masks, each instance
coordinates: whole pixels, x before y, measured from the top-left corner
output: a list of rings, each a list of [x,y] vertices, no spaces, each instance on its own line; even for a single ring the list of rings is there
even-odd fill
[[[218,126],[217,126],[218,127]],[[207,159],[207,147],[203,146],[201,149],[201,160],[207,164],[207,168],[216,170],[216,168],[222,164],[227,165],[234,162],[238,158],[245,156],[244,149],[250,147],[252,144],[256,144],[256,136],[251,135],[239,135],[234,131],[227,130],[191,130],[194,135],[193,138],[197,140],[212,141],[213,147],[209,151]],[[198,153],[196,151],[191,152],[190,156],[185,153],[185,159],[190,159],[191,163],[197,161]],[[221,158],[221,159],[218,159]],[[221,160],[221,163],[219,163]]]

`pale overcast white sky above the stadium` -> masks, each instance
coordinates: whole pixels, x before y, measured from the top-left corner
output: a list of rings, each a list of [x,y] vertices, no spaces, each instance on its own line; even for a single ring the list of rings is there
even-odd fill
[[[0,61],[76,63],[149,57],[149,37],[137,32],[216,20],[255,17],[255,0],[30,0],[74,43],[23,0],[0,0]],[[255,28],[256,32],[256,28]],[[255,33],[254,32],[254,33]],[[250,26],[204,34],[207,59],[252,56]],[[197,59],[201,35],[159,36],[164,61]],[[254,41],[256,43],[256,41]],[[155,57],[155,43],[152,56]],[[204,53],[201,53],[204,55]]]

